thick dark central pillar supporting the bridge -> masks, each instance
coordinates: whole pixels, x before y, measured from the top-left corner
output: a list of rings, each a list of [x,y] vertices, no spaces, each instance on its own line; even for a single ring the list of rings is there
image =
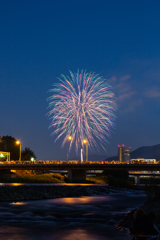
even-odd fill
[[[85,183],[86,182],[86,170],[69,169],[68,170],[68,182],[69,183]]]

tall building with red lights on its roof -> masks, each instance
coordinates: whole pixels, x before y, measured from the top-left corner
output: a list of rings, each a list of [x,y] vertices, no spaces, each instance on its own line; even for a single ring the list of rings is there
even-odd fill
[[[130,149],[131,147],[125,147],[118,145],[118,161],[119,162],[129,162],[130,161]]]

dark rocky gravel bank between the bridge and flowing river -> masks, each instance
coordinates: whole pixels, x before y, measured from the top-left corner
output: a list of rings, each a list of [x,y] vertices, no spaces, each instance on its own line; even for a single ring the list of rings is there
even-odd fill
[[[126,189],[107,185],[2,185],[0,187],[0,202],[103,196],[120,191],[123,192]]]

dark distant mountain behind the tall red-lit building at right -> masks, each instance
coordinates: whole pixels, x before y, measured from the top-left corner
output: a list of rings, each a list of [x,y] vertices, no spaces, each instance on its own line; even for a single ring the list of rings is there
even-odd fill
[[[160,161],[160,144],[154,146],[145,146],[137,148],[136,150],[131,152],[132,158],[154,158],[157,161]],[[107,161],[118,160],[118,156],[109,157],[106,159]]]

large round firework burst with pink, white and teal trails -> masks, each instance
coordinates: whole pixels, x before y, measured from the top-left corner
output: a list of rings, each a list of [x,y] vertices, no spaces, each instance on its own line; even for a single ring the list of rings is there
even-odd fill
[[[53,134],[64,137],[62,146],[72,136],[70,148],[75,143],[76,152],[83,147],[87,139],[91,151],[104,149],[107,137],[110,137],[115,120],[115,97],[106,80],[94,73],[86,71],[70,71],[70,77],[61,75],[59,83],[50,90],[48,116]],[[55,140],[55,141],[56,141]],[[98,144],[99,143],[99,144]]]

